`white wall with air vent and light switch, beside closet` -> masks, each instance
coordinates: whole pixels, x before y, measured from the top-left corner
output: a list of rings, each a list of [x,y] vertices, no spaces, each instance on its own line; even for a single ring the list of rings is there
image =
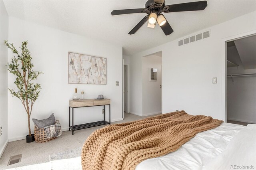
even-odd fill
[[[211,37],[178,46],[178,41],[211,30]],[[142,113],[141,57],[162,51],[162,112],[185,110],[192,115],[208,115],[225,120],[222,113],[222,40],[256,29],[256,12],[234,18],[186,37],[142,51],[131,57],[130,96],[136,99],[131,110]],[[175,30],[174,30],[175,32]],[[172,35],[170,35],[172,36]],[[212,84],[212,77],[218,83]],[[135,86],[135,84],[134,84]]]

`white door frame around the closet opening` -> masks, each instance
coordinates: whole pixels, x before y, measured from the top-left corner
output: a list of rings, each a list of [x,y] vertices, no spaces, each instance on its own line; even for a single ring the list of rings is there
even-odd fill
[[[246,38],[250,36],[256,35],[256,30],[252,30],[249,32],[244,32],[242,34],[237,34],[234,36],[226,37],[221,40],[221,119],[224,122],[227,122],[227,51],[226,51],[226,45],[227,42],[238,40],[241,38]]]

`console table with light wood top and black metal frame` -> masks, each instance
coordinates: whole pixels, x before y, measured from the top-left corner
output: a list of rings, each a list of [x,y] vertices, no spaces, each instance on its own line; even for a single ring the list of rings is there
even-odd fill
[[[109,105],[109,122],[105,121],[105,106]],[[92,123],[85,123],[81,125],[74,125],[74,108],[78,107],[92,107],[92,106],[103,106],[104,110],[104,120]],[[72,108],[72,126],[70,126],[70,107]],[[69,131],[72,130],[72,135],[75,130],[80,130],[84,128],[96,127],[101,125],[110,125],[110,99],[85,99],[85,100],[69,100],[69,112],[68,112],[68,127]]]

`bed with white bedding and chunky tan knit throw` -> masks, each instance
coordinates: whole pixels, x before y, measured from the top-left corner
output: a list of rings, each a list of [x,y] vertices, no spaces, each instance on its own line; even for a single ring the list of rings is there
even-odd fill
[[[245,127],[222,122],[180,111],[110,125],[87,138],[81,153],[82,167],[102,170],[255,168],[256,125]]]

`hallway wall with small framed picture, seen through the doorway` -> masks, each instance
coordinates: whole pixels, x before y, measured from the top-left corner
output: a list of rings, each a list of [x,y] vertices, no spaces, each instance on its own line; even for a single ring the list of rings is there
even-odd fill
[[[162,57],[149,55],[142,57],[142,115],[162,113]],[[149,81],[150,68],[157,69],[157,81]]]

